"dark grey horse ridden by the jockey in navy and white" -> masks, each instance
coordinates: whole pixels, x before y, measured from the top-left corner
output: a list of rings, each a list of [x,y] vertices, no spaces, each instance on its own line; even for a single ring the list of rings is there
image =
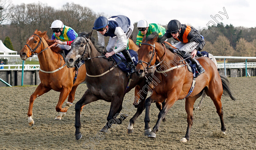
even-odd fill
[[[107,123],[101,129],[101,132],[107,132],[108,129],[111,128],[112,124],[121,124],[122,121],[127,117],[127,115],[119,114],[122,110],[124,95],[136,85],[139,85],[139,87],[144,87],[144,85],[147,85],[148,82],[150,82],[147,79],[140,78],[133,73],[130,75],[130,85],[127,86],[127,83],[129,82],[127,73],[124,73],[119,68],[116,68],[116,63],[113,61],[108,61],[108,59],[104,58],[104,47],[95,41],[95,39],[91,36],[92,32],[93,31],[90,33],[80,33],[72,42],[70,52],[66,56],[66,63],[68,67],[73,67],[78,60],[84,59],[85,66],[87,68],[85,81],[88,89],[75,105],[76,140],[79,140],[82,137],[80,132],[80,109],[82,106],[100,99],[111,102]],[[154,69],[148,70],[148,75],[152,74],[154,71]],[[148,89],[146,88],[140,93],[140,102],[137,104],[137,112],[134,114],[133,118],[130,119],[130,122],[134,123],[136,118],[144,110],[144,101],[147,93]],[[117,119],[117,116],[119,115],[120,118]],[[132,132],[132,129],[129,131]]]

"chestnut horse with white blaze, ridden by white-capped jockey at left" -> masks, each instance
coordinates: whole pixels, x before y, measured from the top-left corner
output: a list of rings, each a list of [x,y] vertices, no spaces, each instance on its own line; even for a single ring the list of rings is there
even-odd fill
[[[35,30],[34,34],[27,39],[27,44],[20,50],[20,58],[22,60],[27,60],[28,57],[37,54],[40,64],[40,71],[38,74],[41,83],[37,86],[29,99],[27,115],[30,126],[34,124],[34,119],[32,119],[32,108],[34,100],[37,97],[50,90],[60,92],[59,101],[55,107],[56,111],[60,112],[60,114],[55,119],[61,120],[74,101],[77,86],[84,82],[86,77],[85,65],[82,65],[79,68],[75,83],[73,83],[76,70],[75,68],[68,68],[66,66],[65,60],[59,53],[61,49],[58,46],[52,46],[50,48],[54,43],[53,40],[48,39],[46,32],[42,33],[41,31]],[[62,104],[67,96],[69,96],[68,102],[66,103],[66,106],[62,108]]]

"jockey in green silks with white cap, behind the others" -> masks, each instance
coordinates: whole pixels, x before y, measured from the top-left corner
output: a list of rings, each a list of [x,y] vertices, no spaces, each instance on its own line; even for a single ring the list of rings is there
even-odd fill
[[[139,29],[139,33],[137,35],[137,41],[136,44],[140,46],[140,43],[142,42],[143,36],[146,35],[149,36],[152,32],[157,32],[159,37],[163,36],[165,34],[165,28],[155,24],[155,23],[150,23],[146,20],[140,20],[137,24],[137,28]]]

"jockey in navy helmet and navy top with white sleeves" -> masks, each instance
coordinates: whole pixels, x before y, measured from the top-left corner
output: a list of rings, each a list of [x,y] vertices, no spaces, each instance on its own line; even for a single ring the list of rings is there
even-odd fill
[[[124,15],[112,16],[109,19],[100,16],[94,21],[92,29],[97,30],[98,41],[102,46],[105,46],[104,36],[110,36],[105,56],[108,58],[122,52],[127,63],[131,66],[132,72],[134,72],[135,65],[129,51],[126,49],[127,40],[133,31],[133,23],[131,23],[130,19]]]

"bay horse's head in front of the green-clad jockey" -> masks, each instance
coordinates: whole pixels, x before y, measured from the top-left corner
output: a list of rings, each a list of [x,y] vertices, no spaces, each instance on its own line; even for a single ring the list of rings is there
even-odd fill
[[[150,66],[153,66],[155,64],[157,58],[155,43],[157,39],[157,32],[153,32],[147,38],[146,36],[143,37],[141,46],[138,49],[139,62],[136,67],[137,76],[144,77],[145,71],[147,71]]]

